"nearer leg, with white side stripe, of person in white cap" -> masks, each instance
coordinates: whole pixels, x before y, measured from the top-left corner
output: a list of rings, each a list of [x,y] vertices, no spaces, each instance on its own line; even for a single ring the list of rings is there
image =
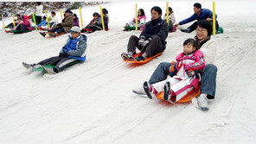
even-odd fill
[[[79,62],[80,60],[78,59],[73,59],[73,58],[63,58],[61,59],[57,65],[54,68],[54,72],[60,72],[62,71],[64,68],[70,66],[72,63],[74,62]]]

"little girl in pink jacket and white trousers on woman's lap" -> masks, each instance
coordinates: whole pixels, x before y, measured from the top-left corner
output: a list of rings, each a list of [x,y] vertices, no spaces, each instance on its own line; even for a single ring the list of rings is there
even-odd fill
[[[176,103],[189,91],[196,89],[201,80],[200,72],[205,66],[203,54],[198,49],[198,41],[188,39],[183,43],[183,53],[179,53],[176,61],[171,62],[169,76],[163,81],[150,85],[144,82],[144,91],[151,99],[164,91],[164,100]]]

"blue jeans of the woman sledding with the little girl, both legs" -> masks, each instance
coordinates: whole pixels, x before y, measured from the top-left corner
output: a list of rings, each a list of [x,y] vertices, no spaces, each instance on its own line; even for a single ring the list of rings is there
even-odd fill
[[[165,80],[168,76],[170,66],[171,64],[168,62],[161,62],[150,77],[150,85]],[[208,64],[202,70],[202,85],[200,93],[208,94],[208,99],[214,99],[215,97],[216,75],[217,67],[213,64]]]

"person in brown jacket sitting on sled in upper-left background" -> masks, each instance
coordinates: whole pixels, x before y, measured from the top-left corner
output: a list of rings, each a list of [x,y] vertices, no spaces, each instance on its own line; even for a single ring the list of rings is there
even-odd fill
[[[61,23],[58,23],[56,27],[48,31],[49,35],[52,37],[56,37],[57,34],[61,34],[62,32],[67,33],[70,30],[70,28],[73,27],[73,16],[71,14],[72,11],[67,9],[65,11],[65,18],[62,20]],[[45,32],[40,32],[40,34],[42,34],[42,36],[46,35]]]

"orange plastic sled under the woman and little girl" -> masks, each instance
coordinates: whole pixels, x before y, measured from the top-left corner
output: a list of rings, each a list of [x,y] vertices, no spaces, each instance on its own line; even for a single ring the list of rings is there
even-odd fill
[[[198,85],[196,89],[193,89],[192,91],[189,91],[189,93],[186,96],[182,97],[182,99],[177,101],[177,103],[189,102],[192,98],[199,96],[200,95],[200,88],[201,88],[201,85]],[[157,98],[163,99],[163,92],[159,93],[157,95]]]

